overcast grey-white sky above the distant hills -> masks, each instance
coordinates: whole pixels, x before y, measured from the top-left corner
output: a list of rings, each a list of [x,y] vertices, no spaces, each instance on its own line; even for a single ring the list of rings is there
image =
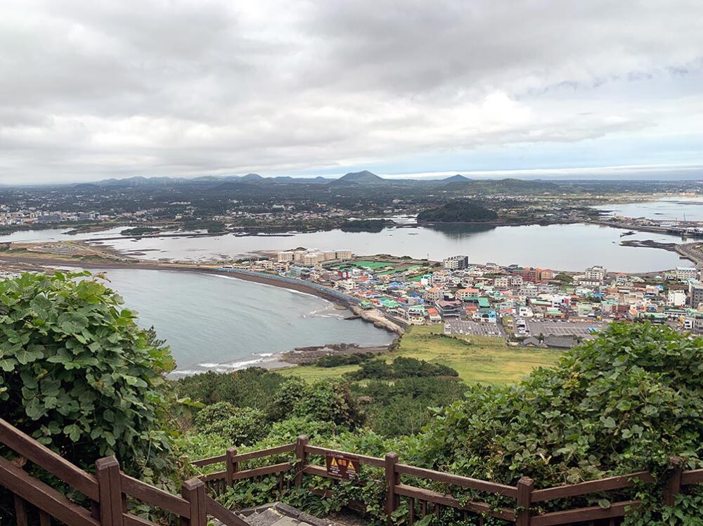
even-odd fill
[[[702,0],[1,7],[0,183],[703,165]]]

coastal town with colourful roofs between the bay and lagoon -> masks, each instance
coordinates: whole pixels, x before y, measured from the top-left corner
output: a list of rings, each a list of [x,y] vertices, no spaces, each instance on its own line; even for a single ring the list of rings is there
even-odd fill
[[[440,262],[296,249],[218,270],[305,282],[396,327],[444,324],[446,334],[502,336],[522,346],[570,348],[616,320],[703,332],[703,275],[692,266],[640,276],[598,265],[555,272],[472,263],[466,255]]]

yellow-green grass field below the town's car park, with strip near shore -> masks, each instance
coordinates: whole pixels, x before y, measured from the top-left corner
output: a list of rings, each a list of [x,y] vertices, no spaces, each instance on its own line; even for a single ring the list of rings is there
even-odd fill
[[[416,325],[401,338],[400,348],[385,355],[387,360],[406,356],[427,362],[449,365],[463,381],[473,383],[514,383],[536,367],[550,367],[560,351],[509,347],[503,338],[493,336],[439,336],[443,325]],[[280,374],[300,376],[305,380],[338,378],[354,371],[355,365],[342,367],[291,367]]]

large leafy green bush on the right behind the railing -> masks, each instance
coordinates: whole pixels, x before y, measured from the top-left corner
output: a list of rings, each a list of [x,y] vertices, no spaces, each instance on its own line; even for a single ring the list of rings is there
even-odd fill
[[[536,487],[640,470],[664,479],[671,456],[701,464],[702,415],[703,339],[615,323],[555,369],[471,388],[418,437],[414,461]]]

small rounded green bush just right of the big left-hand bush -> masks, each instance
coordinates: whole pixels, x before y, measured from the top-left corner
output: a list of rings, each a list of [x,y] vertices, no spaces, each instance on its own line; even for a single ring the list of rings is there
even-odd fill
[[[252,407],[235,407],[229,402],[217,402],[201,409],[193,423],[202,433],[219,435],[231,445],[248,445],[262,440],[269,432],[266,414]]]

